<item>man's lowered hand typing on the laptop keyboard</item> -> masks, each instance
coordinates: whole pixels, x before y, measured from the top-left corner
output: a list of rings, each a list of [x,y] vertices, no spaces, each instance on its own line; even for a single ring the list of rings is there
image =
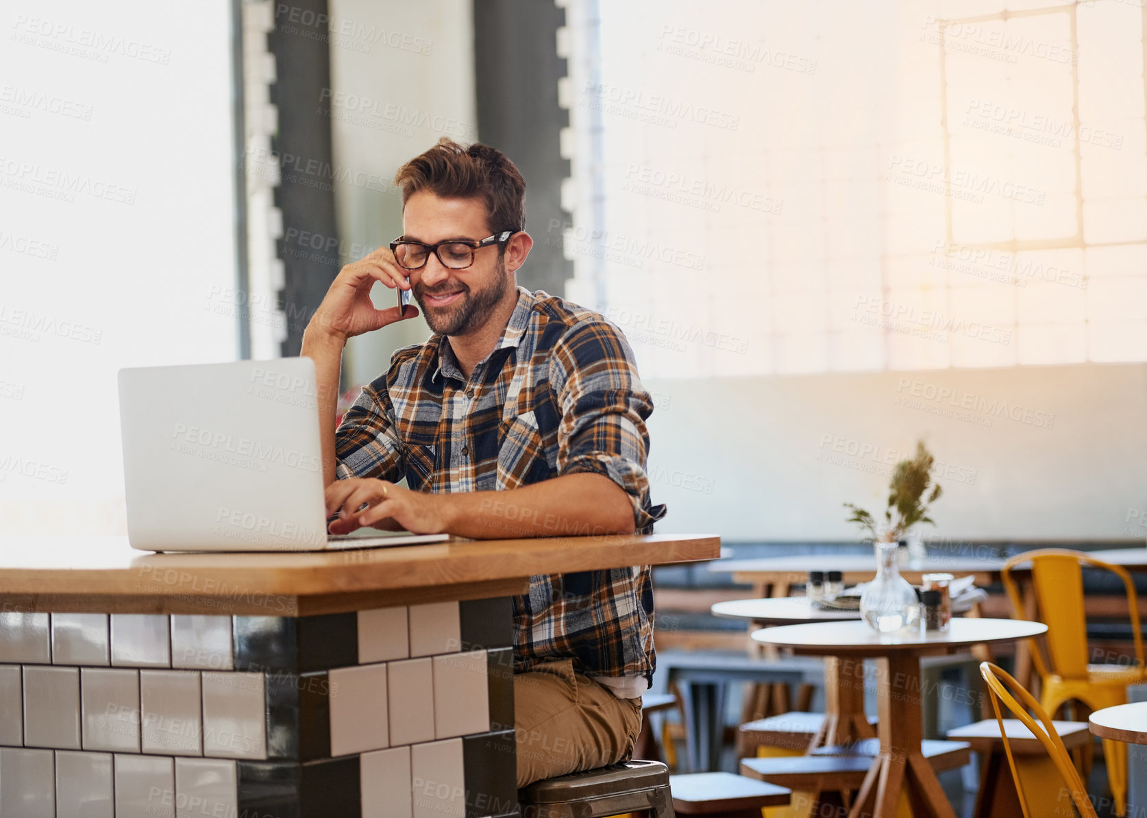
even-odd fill
[[[330,533],[350,533],[364,525],[412,533],[445,530],[443,496],[411,491],[384,480],[336,480],[327,486],[326,498],[327,516],[338,512],[338,519],[328,525]],[[362,504],[368,507],[361,508]]]

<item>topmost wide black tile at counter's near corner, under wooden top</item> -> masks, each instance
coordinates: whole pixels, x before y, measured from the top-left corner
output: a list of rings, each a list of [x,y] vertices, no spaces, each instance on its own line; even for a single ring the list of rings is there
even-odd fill
[[[305,673],[358,664],[358,615],[236,616],[235,670]]]

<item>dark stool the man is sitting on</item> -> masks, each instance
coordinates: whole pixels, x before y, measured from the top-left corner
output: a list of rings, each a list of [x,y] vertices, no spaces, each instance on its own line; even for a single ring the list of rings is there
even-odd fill
[[[669,770],[655,761],[546,778],[517,790],[517,800],[522,818],[600,818],[642,811],[673,818]]]

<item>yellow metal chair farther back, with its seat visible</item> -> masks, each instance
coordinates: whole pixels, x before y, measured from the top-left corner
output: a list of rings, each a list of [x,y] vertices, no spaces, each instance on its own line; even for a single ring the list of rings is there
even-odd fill
[[[1079,551],[1048,548],[1029,551],[1013,556],[1004,566],[1004,587],[1015,616],[1025,618],[1023,599],[1012,571],[1023,562],[1031,562],[1031,584],[1038,605],[1040,622],[1047,625],[1047,657],[1031,640],[1031,661],[1040,680],[1040,704],[1055,712],[1071,700],[1092,710],[1124,704],[1128,685],[1147,679],[1144,662],[1142,631],[1139,626],[1139,601],[1131,575],[1122,566],[1093,559]],[[1083,567],[1102,568],[1123,581],[1131,616],[1136,664],[1090,664],[1087,659],[1087,618],[1084,610]],[[1103,741],[1107,759],[1107,779],[1119,815],[1126,811],[1128,747],[1118,741]]]

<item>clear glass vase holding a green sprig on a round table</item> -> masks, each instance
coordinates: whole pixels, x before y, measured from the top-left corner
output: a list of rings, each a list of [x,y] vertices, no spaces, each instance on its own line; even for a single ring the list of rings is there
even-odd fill
[[[928,507],[941,493],[938,483],[928,493],[933,462],[933,455],[924,449],[924,444],[918,442],[916,457],[896,463],[883,522],[879,522],[859,506],[844,504],[845,508],[852,511],[849,522],[859,524],[876,546],[876,578],[868,583],[860,595],[860,615],[871,628],[881,633],[920,625],[916,592],[900,576],[896,566],[896,544],[916,523],[936,524],[928,516]],[[926,493],[928,499],[921,501]]]

